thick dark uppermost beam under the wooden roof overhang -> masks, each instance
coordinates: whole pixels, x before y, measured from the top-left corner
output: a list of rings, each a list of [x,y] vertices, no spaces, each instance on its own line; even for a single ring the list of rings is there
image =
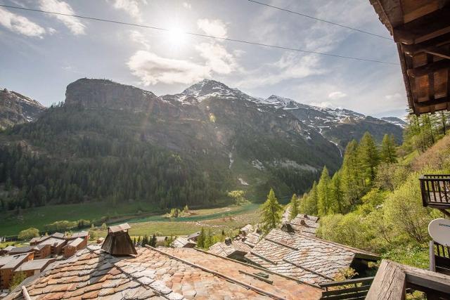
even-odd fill
[[[394,41],[408,45],[447,34],[450,32],[450,8],[446,6],[422,18],[394,27],[392,31]]]

